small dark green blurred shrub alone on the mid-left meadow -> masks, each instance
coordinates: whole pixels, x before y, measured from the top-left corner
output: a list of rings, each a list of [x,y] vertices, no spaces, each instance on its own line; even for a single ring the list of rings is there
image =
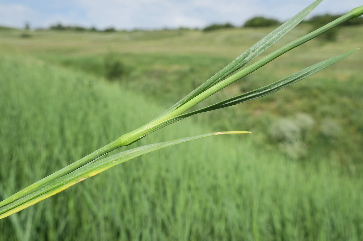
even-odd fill
[[[105,77],[109,80],[120,78],[126,73],[125,65],[119,59],[119,56],[114,53],[109,53],[105,56]]]

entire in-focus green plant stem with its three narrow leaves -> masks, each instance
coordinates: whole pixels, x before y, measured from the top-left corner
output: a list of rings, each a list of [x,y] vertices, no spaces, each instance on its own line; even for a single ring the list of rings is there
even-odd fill
[[[191,141],[199,138],[204,138],[208,136],[220,135],[220,134],[245,134],[250,133],[248,131],[233,131],[233,132],[215,132],[211,134],[199,135],[195,137],[183,138],[179,140],[166,141],[163,143],[145,145],[142,147],[130,149],[128,151],[117,153],[113,156],[106,158],[99,158],[106,153],[126,145],[130,145],[135,141],[140,140],[144,136],[154,132],[160,128],[163,128],[171,123],[174,123],[178,120],[184,119],[191,115],[195,115],[197,113],[202,113],[206,111],[216,110],[220,108],[224,108],[227,106],[237,105],[239,103],[247,102],[250,100],[254,100],[260,98],[262,96],[266,96],[277,90],[285,88],[293,83],[296,83],[299,80],[305,79],[310,75],[328,67],[331,64],[347,57],[353,52],[357,51],[352,50],[345,54],[339,55],[337,57],[327,59],[320,63],[314,64],[308,68],[305,68],[293,75],[290,75],[284,79],[278,80],[275,83],[270,85],[266,85],[262,88],[253,90],[251,92],[241,94],[239,96],[229,98],[228,100],[221,101],[219,103],[215,103],[214,105],[187,112],[196,104],[205,100],[212,94],[215,94],[219,90],[225,88],[226,86],[234,83],[235,81],[241,79],[242,77],[252,73],[258,68],[261,68],[265,64],[270,61],[276,59],[278,56],[286,53],[287,51],[292,50],[293,48],[302,45],[303,43],[317,37],[318,35],[326,32],[327,30],[334,28],[335,26],[341,24],[344,21],[350,20],[352,18],[359,17],[363,14],[363,6],[352,9],[349,13],[344,16],[338,18],[330,22],[329,24],[285,45],[284,47],[279,48],[273,53],[267,55],[266,57],[258,60],[257,62],[249,65],[246,68],[234,73],[238,69],[244,67],[246,64],[251,62],[254,58],[264,52],[267,48],[269,48],[273,43],[275,43],[278,39],[284,36],[287,32],[293,29],[297,24],[299,24],[322,0],[316,0],[314,3],[309,5],[307,8],[303,9],[297,15],[295,15],[290,20],[286,21],[284,24],[279,26],[277,29],[272,31],[266,37],[258,41],[255,45],[250,47],[248,50],[243,52],[240,56],[238,56],[235,60],[233,60],[226,67],[221,69],[218,73],[212,76],[209,80],[205,81],[198,88],[193,90],[183,99],[181,99],[178,103],[170,107],[164,113],[156,117],[151,122],[145,124],[137,128],[134,131],[131,131],[125,135],[122,135],[117,140],[111,142],[110,144],[105,145],[104,147],[94,151],[93,153],[81,158],[80,160],[73,162],[72,164],[58,170],[57,172],[49,175],[33,183],[32,185],[24,188],[23,190],[15,193],[12,196],[9,196],[7,199],[0,202],[0,219],[11,215],[12,213],[23,210],[26,207],[29,207],[43,199],[48,198],[60,191],[76,184],[77,182],[81,182],[88,177],[92,177],[100,172],[103,172],[106,169],[109,169],[117,164],[130,160],[134,157],[143,155],[144,153],[148,153],[151,151],[155,151],[164,147],[168,147],[171,145],[183,143],[186,141]],[[231,75],[234,73],[233,75]],[[229,76],[229,77],[228,77]]]

